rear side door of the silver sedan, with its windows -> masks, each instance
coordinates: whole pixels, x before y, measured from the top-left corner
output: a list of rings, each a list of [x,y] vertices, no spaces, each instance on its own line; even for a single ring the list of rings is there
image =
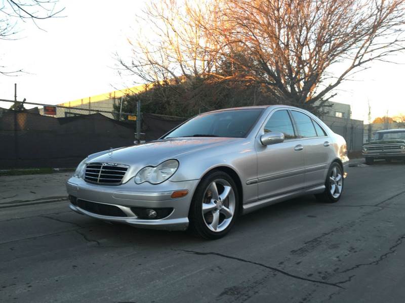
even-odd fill
[[[325,173],[329,169],[329,154],[332,147],[327,133],[310,116],[291,110],[298,137],[304,148],[305,186],[313,187],[325,183]]]

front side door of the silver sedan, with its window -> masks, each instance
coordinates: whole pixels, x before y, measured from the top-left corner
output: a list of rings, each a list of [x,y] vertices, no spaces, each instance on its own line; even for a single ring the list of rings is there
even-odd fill
[[[283,133],[282,143],[263,146],[260,136],[268,132]],[[304,151],[297,141],[288,110],[270,114],[256,142],[258,156],[258,198],[265,199],[304,186]]]

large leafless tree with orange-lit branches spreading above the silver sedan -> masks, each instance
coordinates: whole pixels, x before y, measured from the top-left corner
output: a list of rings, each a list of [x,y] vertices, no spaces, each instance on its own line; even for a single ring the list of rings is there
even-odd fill
[[[405,0],[159,0],[141,22],[120,64],[144,82],[248,83],[308,109],[405,50]]]

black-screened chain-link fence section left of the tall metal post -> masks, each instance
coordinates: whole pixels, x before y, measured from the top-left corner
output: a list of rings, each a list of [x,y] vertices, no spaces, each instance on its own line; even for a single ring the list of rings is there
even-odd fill
[[[0,108],[0,169],[74,167],[89,154],[135,141],[132,113],[0,102],[11,108]]]

